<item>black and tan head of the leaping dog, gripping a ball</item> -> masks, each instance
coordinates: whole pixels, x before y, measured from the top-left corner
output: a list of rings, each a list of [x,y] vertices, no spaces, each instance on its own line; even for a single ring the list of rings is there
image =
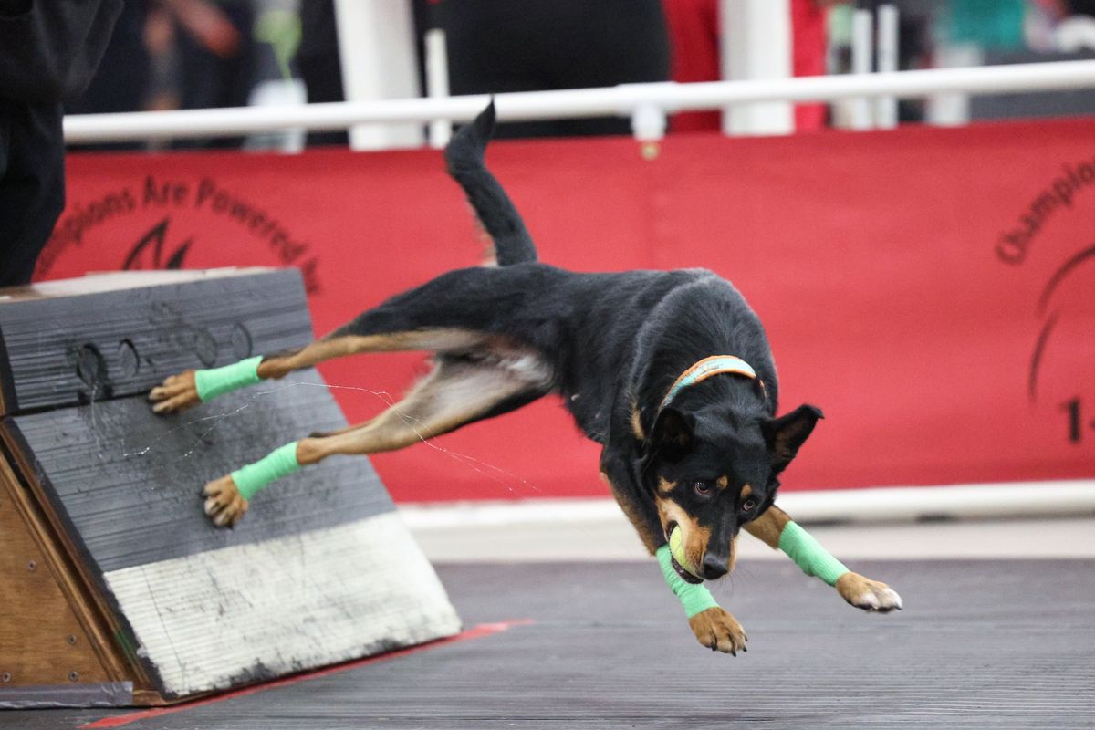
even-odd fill
[[[689,565],[675,567],[685,580],[734,569],[738,531],[772,505],[780,474],[821,417],[810,405],[771,418],[711,402],[658,413],[644,443],[643,475],[667,540],[673,525],[681,529]]]

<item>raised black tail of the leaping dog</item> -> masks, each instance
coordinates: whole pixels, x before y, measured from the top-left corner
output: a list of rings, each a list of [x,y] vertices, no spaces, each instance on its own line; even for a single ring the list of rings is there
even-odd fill
[[[449,174],[464,188],[483,228],[494,240],[499,266],[537,260],[537,247],[512,201],[483,161],[494,134],[494,100],[475,120],[464,125],[445,148]]]

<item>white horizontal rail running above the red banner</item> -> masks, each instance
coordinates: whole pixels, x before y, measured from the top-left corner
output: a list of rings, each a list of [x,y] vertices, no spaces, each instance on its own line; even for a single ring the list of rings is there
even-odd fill
[[[641,105],[666,113],[717,109],[752,102],[825,102],[856,96],[911,99],[941,92],[994,94],[1095,86],[1095,60],[929,69],[891,73],[803,77],[757,81],[622,84],[498,94],[504,121],[631,116]],[[89,114],[65,117],[68,142],[217,137],[303,127],[345,129],[358,124],[468,121],[486,95],[339,102],[285,107]]]

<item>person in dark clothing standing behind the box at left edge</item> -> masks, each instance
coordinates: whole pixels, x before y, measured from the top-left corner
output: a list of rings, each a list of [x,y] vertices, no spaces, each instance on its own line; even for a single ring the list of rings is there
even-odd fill
[[[0,287],[24,285],[65,208],[61,103],[80,94],[122,0],[0,0]]]

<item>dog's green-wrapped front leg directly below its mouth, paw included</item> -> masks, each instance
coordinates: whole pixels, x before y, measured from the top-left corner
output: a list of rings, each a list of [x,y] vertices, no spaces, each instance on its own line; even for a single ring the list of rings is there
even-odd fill
[[[601,478],[609,485],[620,509],[638,532],[643,545],[646,546],[650,555],[657,554],[659,548],[664,548],[666,545],[661,520],[653,507],[644,507],[646,500],[638,499],[624,488],[624,485],[632,484],[633,479],[629,477],[626,466],[621,464],[619,460],[612,459],[608,454],[608,450],[601,455]],[[662,575],[673,593],[681,599],[688,615],[689,627],[696,640],[713,651],[722,651],[735,657],[739,651],[747,651],[746,641],[748,638],[738,619],[715,603],[706,588],[685,586],[683,579],[670,575],[671,570],[671,568],[667,570],[662,566]],[[692,593],[693,596],[687,602],[679,591]],[[698,609],[690,610],[691,601],[695,600],[700,601],[700,605]]]

